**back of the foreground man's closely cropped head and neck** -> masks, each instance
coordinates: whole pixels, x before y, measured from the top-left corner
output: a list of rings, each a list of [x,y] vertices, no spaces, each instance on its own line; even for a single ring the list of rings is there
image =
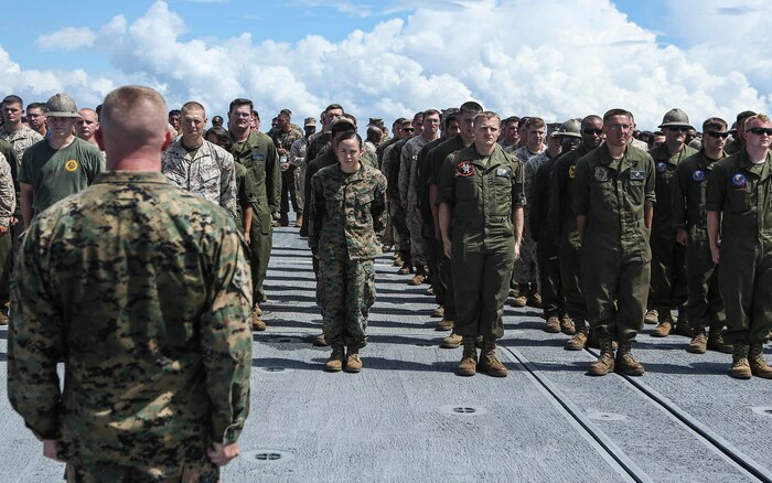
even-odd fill
[[[160,161],[167,124],[167,103],[158,92],[124,86],[108,94],[101,107],[99,135],[107,169],[128,157],[147,155],[147,161]]]

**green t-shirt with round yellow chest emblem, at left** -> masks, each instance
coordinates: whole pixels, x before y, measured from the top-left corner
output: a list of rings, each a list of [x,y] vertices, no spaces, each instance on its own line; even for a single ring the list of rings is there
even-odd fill
[[[40,213],[86,189],[104,170],[105,160],[99,149],[83,139],[75,138],[60,150],[43,140],[24,152],[19,183],[32,185],[32,208]]]

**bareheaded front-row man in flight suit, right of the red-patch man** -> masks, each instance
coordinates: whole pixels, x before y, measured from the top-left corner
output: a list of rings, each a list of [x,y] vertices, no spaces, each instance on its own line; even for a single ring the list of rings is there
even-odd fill
[[[573,211],[581,240],[581,276],[587,312],[601,354],[589,374],[614,368],[641,376],[632,343],[643,329],[652,253],[648,235],[654,210],[654,162],[630,146],[632,115],[611,109],[603,115],[605,143],[577,162]],[[614,361],[612,342],[619,344]]]

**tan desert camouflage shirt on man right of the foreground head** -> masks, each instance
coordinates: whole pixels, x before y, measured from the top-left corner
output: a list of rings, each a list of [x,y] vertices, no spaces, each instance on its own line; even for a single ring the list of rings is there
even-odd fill
[[[182,146],[172,142],[163,153],[161,171],[178,187],[197,194],[236,216],[236,174],[233,155],[204,140],[194,158]]]

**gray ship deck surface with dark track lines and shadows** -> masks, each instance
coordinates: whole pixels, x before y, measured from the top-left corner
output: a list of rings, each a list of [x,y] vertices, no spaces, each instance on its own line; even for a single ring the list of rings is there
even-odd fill
[[[251,414],[223,481],[771,481],[772,382],[730,378],[730,355],[688,354],[688,339],[647,326],[634,346],[645,376],[593,378],[590,352],[564,351],[567,336],[543,332],[538,311],[507,308],[510,376],[458,377],[461,350],[439,348],[447,333],[433,330],[427,286],[408,287],[390,261],[377,261],[363,372],[328,374],[329,350],[311,345],[310,251],[296,228],[275,232]],[[63,464],[42,457],[8,402],[6,340],[3,328],[0,483],[60,481]]]

